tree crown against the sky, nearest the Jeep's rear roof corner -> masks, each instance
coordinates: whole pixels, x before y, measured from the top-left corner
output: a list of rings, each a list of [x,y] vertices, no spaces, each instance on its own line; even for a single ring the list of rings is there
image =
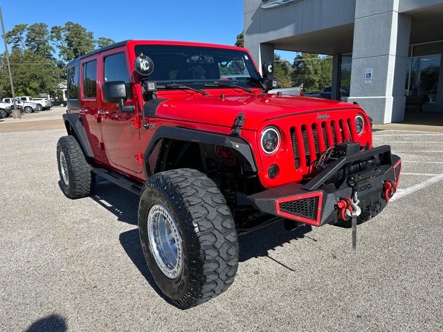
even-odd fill
[[[85,55],[95,48],[93,33],[78,23],[66,22],[64,26],[53,26],[51,39],[65,62]]]

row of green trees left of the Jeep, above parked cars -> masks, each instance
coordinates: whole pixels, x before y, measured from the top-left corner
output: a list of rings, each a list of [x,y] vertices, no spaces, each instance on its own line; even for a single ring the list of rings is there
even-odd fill
[[[16,24],[6,33],[16,95],[39,93],[60,96],[66,83],[66,64],[96,48],[113,44],[107,37],[94,38],[91,31],[71,21],[64,26],[45,23]],[[5,55],[0,55],[0,95],[12,95]]]

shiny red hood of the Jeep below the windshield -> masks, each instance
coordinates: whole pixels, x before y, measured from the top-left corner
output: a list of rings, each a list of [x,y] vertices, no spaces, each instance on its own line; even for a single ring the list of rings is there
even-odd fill
[[[161,98],[161,97],[160,97]],[[356,109],[356,105],[320,98],[290,95],[206,95],[196,98],[166,100],[156,111],[159,118],[232,127],[239,113],[244,113],[244,129],[256,130],[262,122],[275,117],[331,109]]]

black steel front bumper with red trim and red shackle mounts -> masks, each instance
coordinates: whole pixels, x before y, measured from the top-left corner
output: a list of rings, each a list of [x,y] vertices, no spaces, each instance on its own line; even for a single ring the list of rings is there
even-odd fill
[[[377,163],[361,172],[349,172],[352,165],[367,160]],[[365,221],[385,208],[397,190],[400,172],[401,159],[383,145],[338,158],[307,183],[264,190],[248,199],[262,212],[316,226],[336,223],[343,215],[337,203],[358,199],[359,219]]]

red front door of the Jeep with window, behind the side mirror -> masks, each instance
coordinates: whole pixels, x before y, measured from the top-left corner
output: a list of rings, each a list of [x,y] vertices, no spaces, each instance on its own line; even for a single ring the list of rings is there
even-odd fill
[[[135,103],[132,91],[130,68],[127,61],[126,47],[114,48],[100,55],[102,71],[100,80],[104,82],[123,81],[126,83],[127,106],[134,105],[134,113],[120,111],[117,103],[107,103],[100,98],[100,113],[104,114],[101,122],[102,138],[106,154],[111,163],[132,175],[141,173],[141,142]]]

